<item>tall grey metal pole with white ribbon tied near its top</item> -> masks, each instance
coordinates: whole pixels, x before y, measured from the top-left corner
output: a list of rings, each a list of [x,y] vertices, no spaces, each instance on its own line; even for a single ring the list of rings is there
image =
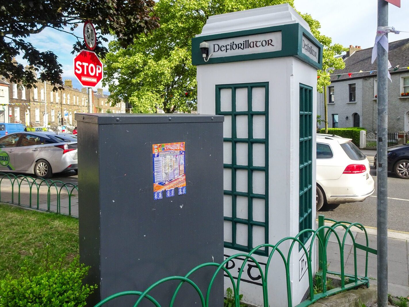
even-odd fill
[[[378,0],[378,27],[388,25],[388,2]],[[386,34],[387,35],[387,34]],[[388,52],[378,43],[377,243],[378,306],[388,306]]]

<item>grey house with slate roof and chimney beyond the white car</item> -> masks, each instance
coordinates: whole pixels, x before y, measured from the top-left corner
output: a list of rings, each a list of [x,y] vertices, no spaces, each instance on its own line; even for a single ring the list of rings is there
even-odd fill
[[[351,45],[343,56],[345,69],[331,74],[328,128],[359,126],[376,131],[377,61],[371,64],[371,55],[372,48]],[[388,131],[409,131],[409,39],[389,43],[389,61],[392,82],[388,83]],[[317,114],[324,118],[324,94],[318,93],[317,98]]]

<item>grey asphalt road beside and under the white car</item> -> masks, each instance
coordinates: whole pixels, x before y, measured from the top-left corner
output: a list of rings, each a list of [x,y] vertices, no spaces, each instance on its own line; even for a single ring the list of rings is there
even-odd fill
[[[364,152],[375,155],[376,152]],[[371,167],[375,192],[362,202],[327,205],[319,214],[337,221],[360,222],[376,227],[376,169]],[[388,229],[409,232],[409,180],[388,173]]]

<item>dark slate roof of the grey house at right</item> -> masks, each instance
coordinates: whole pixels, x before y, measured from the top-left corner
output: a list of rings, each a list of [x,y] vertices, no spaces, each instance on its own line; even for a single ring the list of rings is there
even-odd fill
[[[395,34],[389,34],[389,36],[391,35]],[[375,60],[373,64],[371,64],[372,49],[373,47],[362,49],[360,51],[355,51],[349,57],[345,56],[345,68],[334,70],[333,74],[331,74],[330,77],[331,82],[376,76],[378,61]],[[396,65],[399,65],[399,69],[395,72],[393,70],[389,70],[391,74],[397,72],[409,72],[409,69],[407,69],[407,67],[409,67],[409,38],[389,43],[388,58],[391,62],[392,67],[396,67]],[[360,70],[364,72],[354,73],[352,74],[351,78],[348,76],[349,72],[359,72]],[[372,74],[366,72],[371,70],[375,70],[375,72],[373,72]],[[337,74],[342,74],[339,79],[337,77]]]

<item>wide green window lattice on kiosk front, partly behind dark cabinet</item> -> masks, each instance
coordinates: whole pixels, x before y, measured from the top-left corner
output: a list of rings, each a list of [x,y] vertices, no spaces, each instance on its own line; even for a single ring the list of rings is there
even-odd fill
[[[260,106],[258,103],[256,108],[253,104],[253,90],[257,90],[257,88],[264,88],[264,106]],[[231,110],[229,111],[221,110],[221,91],[224,89],[231,90]],[[236,110],[236,91],[240,89],[242,91],[247,89],[246,111]],[[224,164],[224,169],[231,172],[231,190],[224,190],[225,198],[231,198],[231,216],[224,217],[225,227],[226,224],[231,225],[231,242],[225,241],[224,245],[226,248],[239,251],[249,252],[259,244],[268,243],[268,89],[268,82],[216,85],[216,115],[225,115],[225,125],[231,126],[231,135],[223,138],[227,148],[231,148],[231,163]],[[262,101],[260,97],[255,98],[254,101],[256,99],[258,102]],[[242,119],[243,116],[247,116],[247,138],[238,137],[236,126],[238,116],[241,116]],[[256,120],[256,124],[259,124],[259,120],[263,122],[263,117],[264,135],[258,135],[260,133],[259,125],[257,126],[257,135],[254,135],[253,123]],[[240,165],[237,161],[237,147],[241,147],[243,144],[247,144],[247,165]],[[257,157],[258,162],[254,161],[254,156]],[[260,162],[262,156],[264,156],[263,162]],[[236,180],[238,172],[244,174],[243,171],[247,173],[247,191],[244,192],[237,190]],[[263,178],[265,187],[253,185],[255,176],[258,179]],[[239,197],[242,201],[247,202],[247,219],[243,216],[238,217],[240,215],[237,208]],[[260,212],[262,212],[263,217],[261,217]],[[238,231],[238,228],[241,229],[241,232]],[[245,228],[247,228],[247,244],[239,244],[237,243],[237,234],[245,233],[246,230],[243,230]],[[254,240],[254,234],[257,236],[256,240]],[[261,236],[263,236],[262,241],[260,240]],[[267,253],[267,248],[261,248],[256,252],[258,255],[267,255]]]

